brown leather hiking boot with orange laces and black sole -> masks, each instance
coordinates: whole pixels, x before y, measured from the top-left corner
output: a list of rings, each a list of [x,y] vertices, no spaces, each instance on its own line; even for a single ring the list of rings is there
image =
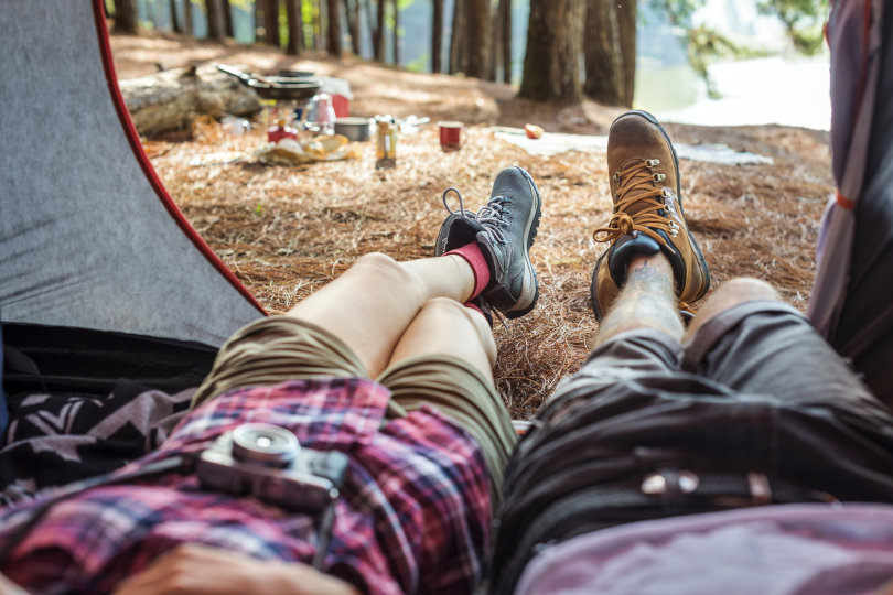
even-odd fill
[[[595,241],[611,242],[592,272],[592,310],[607,312],[626,281],[635,255],[663,251],[673,267],[676,294],[700,300],[710,288],[710,272],[682,210],[679,161],[664,128],[645,111],[627,111],[607,133],[607,171],[614,214],[596,229]]]

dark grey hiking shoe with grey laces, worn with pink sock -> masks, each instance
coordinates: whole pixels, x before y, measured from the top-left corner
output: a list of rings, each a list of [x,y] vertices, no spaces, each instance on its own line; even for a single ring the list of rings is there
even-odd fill
[[[459,191],[449,188],[446,194]],[[445,252],[476,241],[491,270],[491,282],[482,293],[486,302],[517,318],[534,310],[539,298],[539,282],[530,262],[530,247],[537,237],[541,201],[539,190],[526,171],[518,166],[496,175],[489,201],[475,217],[464,216],[464,207],[449,226]],[[449,217],[448,217],[449,219]]]

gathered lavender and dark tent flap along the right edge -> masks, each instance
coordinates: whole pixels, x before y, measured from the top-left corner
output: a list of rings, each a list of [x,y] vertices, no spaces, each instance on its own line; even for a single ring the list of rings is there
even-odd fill
[[[832,1],[827,41],[837,195],[822,217],[807,314],[893,405],[893,6]]]

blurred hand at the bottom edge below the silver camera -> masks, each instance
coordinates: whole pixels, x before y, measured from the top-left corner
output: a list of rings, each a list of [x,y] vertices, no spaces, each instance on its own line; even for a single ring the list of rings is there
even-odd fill
[[[118,585],[118,595],[359,595],[352,585],[299,563],[194,543],[180,545]]]

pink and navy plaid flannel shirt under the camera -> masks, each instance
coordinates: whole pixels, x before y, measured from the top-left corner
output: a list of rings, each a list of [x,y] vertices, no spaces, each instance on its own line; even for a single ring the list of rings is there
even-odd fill
[[[239,389],[190,413],[158,452],[121,470],[200,451],[240,423],[288,428],[302,446],[337,450],[351,461],[325,572],[368,593],[469,594],[489,538],[481,451],[432,408],[383,423],[389,397],[365,379]],[[0,542],[28,508],[3,511]],[[172,474],[55,505],[0,572],[39,593],[101,593],[181,543],[310,563],[316,521]]]

